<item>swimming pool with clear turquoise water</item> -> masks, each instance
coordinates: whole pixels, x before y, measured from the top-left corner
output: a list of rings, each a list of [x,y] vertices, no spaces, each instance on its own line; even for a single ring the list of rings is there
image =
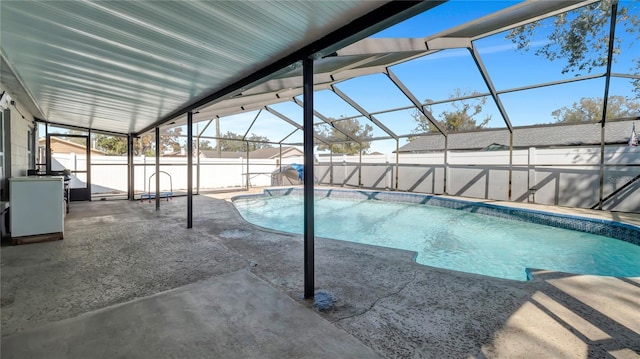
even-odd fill
[[[303,233],[297,189],[233,203],[251,223]],[[411,250],[421,264],[493,277],[526,280],[526,268],[640,276],[640,228],[604,220],[419,194],[316,190],[315,222],[319,237]]]

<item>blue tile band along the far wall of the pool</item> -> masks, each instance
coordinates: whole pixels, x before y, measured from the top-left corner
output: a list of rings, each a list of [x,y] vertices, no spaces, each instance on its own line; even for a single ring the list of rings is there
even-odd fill
[[[532,209],[504,207],[495,204],[467,202],[451,198],[441,198],[428,194],[408,192],[377,192],[365,190],[315,189],[317,197],[335,197],[356,200],[379,200],[404,202],[445,207],[487,216],[506,218],[516,221],[543,224],[552,227],[571,229],[601,236],[621,239],[640,246],[640,227],[605,219],[577,217],[566,214],[548,213]],[[263,194],[233,197],[261,196],[302,196],[302,188],[265,189]]]

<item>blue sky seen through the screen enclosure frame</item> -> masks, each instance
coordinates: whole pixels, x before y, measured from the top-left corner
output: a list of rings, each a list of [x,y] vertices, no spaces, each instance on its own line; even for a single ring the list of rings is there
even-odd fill
[[[478,17],[516,4],[513,1],[450,1],[432,10],[415,16],[403,23],[388,28],[373,37],[427,37],[440,31],[472,21]],[[632,5],[630,1],[621,1],[620,6]],[[640,6],[633,3],[633,12],[640,13]],[[552,25],[551,19],[547,25]],[[545,27],[540,28],[539,35],[532,39],[532,49],[529,52],[516,51],[515,46],[505,39],[505,33],[496,34],[474,42],[482,61],[484,62],[493,84],[498,90],[506,90],[537,83],[545,83],[575,77],[575,73],[562,74],[564,66],[562,60],[549,61],[534,55],[536,48],[548,43]],[[640,52],[629,48],[635,34],[624,33],[618,27],[617,35],[623,38],[622,52],[616,55],[613,72],[631,73],[632,59],[640,56]],[[602,29],[608,33],[608,26]],[[637,44],[635,44],[637,48]],[[488,92],[487,87],[466,49],[445,50],[436,54],[412,60],[392,67],[392,71],[418,97],[419,100],[445,100],[456,89],[463,93],[477,91]],[[594,69],[591,74],[603,73],[605,68]],[[635,70],[637,72],[637,70]],[[581,75],[588,75],[583,72]],[[365,76],[342,82],[337,87],[348,96],[356,100],[369,112],[376,112],[392,108],[409,106],[410,102],[383,74]],[[626,79],[612,79],[610,95],[631,95],[631,82]],[[570,84],[545,87],[527,91],[513,92],[501,95],[511,123],[514,126],[551,123],[554,122],[551,112],[561,107],[570,107],[582,97],[602,97],[604,79],[585,80]],[[327,117],[339,118],[354,116],[357,112],[348,104],[337,98],[330,91],[316,92],[314,97],[316,109]],[[293,103],[276,104],[278,111],[292,119],[299,120],[301,109]],[[451,110],[451,105],[434,105],[431,110],[438,117],[440,113]],[[257,112],[244,113],[221,119],[222,133],[232,131],[244,134],[248,125],[256,118]],[[488,98],[483,106],[483,112],[478,117],[490,116],[488,127],[505,127],[497,106]],[[377,118],[397,134],[408,134],[416,124],[411,118],[411,111],[397,111],[381,114]],[[366,119],[359,119],[364,125]],[[375,126],[374,126],[375,127]],[[294,127],[284,123],[275,116],[263,111],[256,120],[251,132],[267,136],[279,141],[294,130]],[[213,126],[207,131],[214,135]],[[386,134],[375,128],[373,136]],[[302,134],[296,133],[288,141],[302,141]],[[405,141],[402,141],[401,145]],[[395,150],[394,141],[373,142],[370,151],[390,153]]]

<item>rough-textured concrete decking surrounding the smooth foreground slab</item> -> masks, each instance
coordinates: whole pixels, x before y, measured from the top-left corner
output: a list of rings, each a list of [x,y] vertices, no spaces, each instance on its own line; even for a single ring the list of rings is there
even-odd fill
[[[260,229],[231,203],[205,196],[194,198],[194,228],[188,230],[185,208],[185,198],[162,202],[160,211],[128,201],[82,202],[67,216],[63,241],[3,247],[2,350],[15,335],[193,283],[214,283],[238,270],[314,311],[301,299],[301,236]],[[534,281],[518,282],[419,265],[412,252],[322,238],[315,253],[316,289],[335,298],[332,309],[316,314],[385,358],[640,353],[637,278],[535,271]],[[219,305],[241,302],[243,295],[251,294],[234,294]],[[295,328],[287,310],[275,313],[274,325]],[[231,325],[227,320],[219,325]],[[264,325],[229,335],[259,337],[271,330]],[[150,329],[148,335],[164,340],[162,333]],[[299,338],[288,340],[294,345]],[[59,345],[73,343],[61,339]]]

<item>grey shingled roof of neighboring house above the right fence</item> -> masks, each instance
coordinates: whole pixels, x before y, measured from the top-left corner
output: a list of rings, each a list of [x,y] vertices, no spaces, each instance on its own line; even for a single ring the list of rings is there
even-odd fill
[[[631,136],[633,121],[609,121],[605,127],[606,144],[626,144]],[[541,126],[514,127],[513,147],[585,146],[600,144],[600,123],[561,123]],[[509,130],[484,129],[449,134],[449,150],[482,150],[496,145],[509,146]],[[444,136],[440,133],[420,136],[400,147],[400,153],[442,151]]]

